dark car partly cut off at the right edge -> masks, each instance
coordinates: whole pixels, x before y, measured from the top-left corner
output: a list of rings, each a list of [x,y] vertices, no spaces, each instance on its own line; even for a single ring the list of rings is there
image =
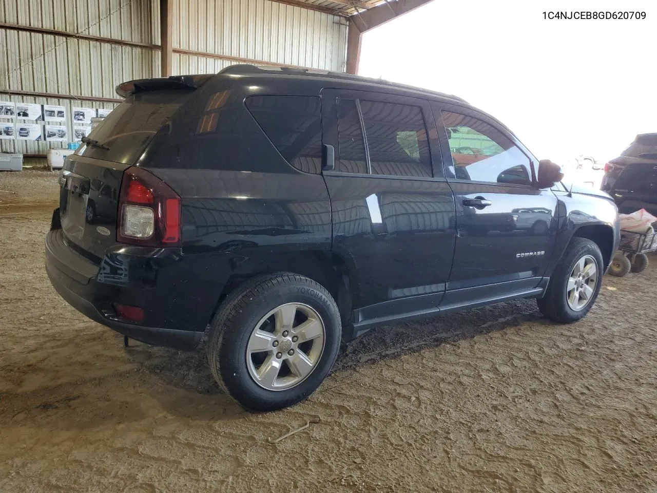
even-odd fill
[[[600,188],[630,214],[645,209],[657,216],[657,133],[641,133],[620,156],[604,166]]]

